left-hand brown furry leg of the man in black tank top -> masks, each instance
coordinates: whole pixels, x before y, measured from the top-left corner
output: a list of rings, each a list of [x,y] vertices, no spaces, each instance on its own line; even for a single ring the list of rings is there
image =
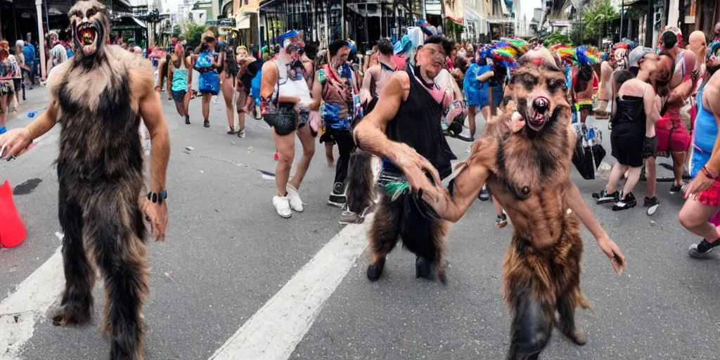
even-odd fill
[[[397,245],[400,215],[399,205],[393,204],[389,197],[383,195],[368,234],[370,264],[367,267],[367,278],[372,282],[380,279],[385,266],[385,256]]]

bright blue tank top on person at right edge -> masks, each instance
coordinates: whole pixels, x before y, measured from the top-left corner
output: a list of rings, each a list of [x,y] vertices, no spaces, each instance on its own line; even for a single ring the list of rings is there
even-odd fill
[[[710,160],[715,139],[718,136],[718,124],[713,113],[703,107],[704,88],[705,86],[698,89],[698,97],[696,98],[698,115],[695,118],[695,130],[693,130],[695,140],[693,142],[693,157],[690,161],[690,176],[693,176],[693,178]]]

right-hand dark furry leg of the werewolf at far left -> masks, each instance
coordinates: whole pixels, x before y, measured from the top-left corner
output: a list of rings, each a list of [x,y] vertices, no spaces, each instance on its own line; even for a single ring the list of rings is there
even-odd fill
[[[108,190],[102,203],[86,210],[86,239],[105,280],[106,304],[101,328],[110,339],[111,360],[144,358],[145,322],[140,311],[148,297],[149,274],[137,195]]]

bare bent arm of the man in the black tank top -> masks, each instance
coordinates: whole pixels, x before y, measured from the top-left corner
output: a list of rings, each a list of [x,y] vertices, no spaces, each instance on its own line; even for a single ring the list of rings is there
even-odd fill
[[[431,198],[438,199],[441,191],[437,186],[441,184],[437,169],[415,149],[404,143],[392,141],[385,135],[387,123],[395,118],[397,109],[408,98],[409,93],[408,73],[395,73],[387,81],[375,109],[364,117],[353,131],[354,140],[362,150],[387,158],[400,168],[407,176],[413,192],[425,192]],[[432,176],[434,184],[431,184],[426,174]]]

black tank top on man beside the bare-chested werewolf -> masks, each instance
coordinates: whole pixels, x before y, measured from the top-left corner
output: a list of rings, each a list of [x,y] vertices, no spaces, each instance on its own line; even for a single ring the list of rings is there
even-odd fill
[[[440,124],[442,105],[423,89],[425,85],[415,78],[410,66],[405,71],[410,77],[410,93],[408,99],[400,103],[395,118],[387,124],[387,138],[410,145],[427,158],[438,169],[440,178],[444,179],[451,174],[450,161],[456,156],[443,135]],[[395,168],[392,164],[387,165]]]

